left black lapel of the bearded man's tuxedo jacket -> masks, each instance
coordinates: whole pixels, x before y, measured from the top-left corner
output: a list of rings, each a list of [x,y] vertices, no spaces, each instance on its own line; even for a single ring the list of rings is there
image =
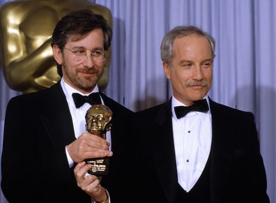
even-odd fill
[[[58,149],[75,140],[72,117],[60,83],[51,87],[46,94],[48,100],[45,100],[45,110],[40,114],[40,119],[52,144]]]

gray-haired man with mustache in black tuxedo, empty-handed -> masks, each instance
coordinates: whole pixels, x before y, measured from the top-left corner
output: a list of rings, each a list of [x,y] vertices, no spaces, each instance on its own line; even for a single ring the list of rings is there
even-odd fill
[[[208,97],[213,37],[197,27],[176,27],[160,49],[173,95],[135,113],[137,200],[269,202],[253,114]]]

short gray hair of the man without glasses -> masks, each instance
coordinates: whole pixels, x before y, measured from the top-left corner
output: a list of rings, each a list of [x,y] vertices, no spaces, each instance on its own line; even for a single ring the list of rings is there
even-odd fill
[[[197,34],[199,36],[204,36],[210,43],[210,48],[212,50],[212,57],[215,58],[215,40],[208,33],[202,31],[201,29],[194,26],[178,26],[169,31],[163,38],[160,50],[161,59],[163,62],[168,63],[169,66],[172,65],[173,57],[173,45],[176,38],[181,38],[183,36],[189,36],[191,34]]]

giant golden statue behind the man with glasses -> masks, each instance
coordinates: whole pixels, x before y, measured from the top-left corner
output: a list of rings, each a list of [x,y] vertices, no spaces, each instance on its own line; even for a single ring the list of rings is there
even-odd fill
[[[56,22],[76,9],[101,14],[112,27],[112,14],[105,6],[85,0],[25,0],[5,3],[0,10],[0,67],[8,86],[29,93],[56,83],[60,76],[52,56],[51,36]],[[109,80],[110,50],[100,90]]]

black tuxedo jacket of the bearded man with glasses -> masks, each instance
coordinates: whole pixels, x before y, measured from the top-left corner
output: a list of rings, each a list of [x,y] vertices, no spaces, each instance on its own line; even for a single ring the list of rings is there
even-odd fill
[[[121,202],[128,178],[128,128],[132,111],[100,96],[113,112],[109,174],[102,178],[112,202]],[[68,165],[66,145],[74,141],[72,117],[60,83],[12,98],[6,110],[1,158],[1,188],[9,202],[90,202]]]

